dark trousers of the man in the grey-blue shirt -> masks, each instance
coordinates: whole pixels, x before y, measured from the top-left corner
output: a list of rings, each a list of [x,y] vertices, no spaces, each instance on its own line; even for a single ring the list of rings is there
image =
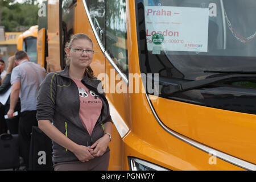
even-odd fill
[[[29,165],[30,139],[32,126],[38,126],[36,110],[23,111],[19,118],[19,150],[20,156],[24,159],[25,166]]]

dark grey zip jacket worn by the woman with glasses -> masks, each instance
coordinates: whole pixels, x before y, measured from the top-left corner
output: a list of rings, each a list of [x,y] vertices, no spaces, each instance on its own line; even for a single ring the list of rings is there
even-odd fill
[[[105,94],[99,93],[97,90],[98,87],[102,88],[101,85],[98,86],[101,81],[97,80],[96,77],[91,80],[85,76],[82,79],[82,84],[97,93],[102,101],[101,115],[90,136],[79,118],[80,100],[79,94],[77,94],[79,90],[76,83],[69,77],[68,69],[69,67],[65,67],[63,71],[49,73],[40,85],[36,118],[38,121],[43,119],[52,121],[53,125],[73,142],[91,146],[104,135],[103,123],[112,122],[109,104]],[[52,144],[53,163],[78,160],[71,151],[66,150],[54,141],[52,141]],[[109,147],[106,152],[108,151]]]

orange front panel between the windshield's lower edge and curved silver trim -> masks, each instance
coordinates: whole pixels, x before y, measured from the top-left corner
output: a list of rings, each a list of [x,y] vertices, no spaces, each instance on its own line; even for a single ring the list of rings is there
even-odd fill
[[[161,121],[170,129],[226,154],[256,163],[255,115],[160,97],[151,101]]]

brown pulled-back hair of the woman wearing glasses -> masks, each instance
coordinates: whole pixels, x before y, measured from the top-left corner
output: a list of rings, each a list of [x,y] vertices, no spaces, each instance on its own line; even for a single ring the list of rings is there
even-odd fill
[[[89,42],[92,43],[92,46],[93,46],[93,42],[92,42],[92,40],[89,38],[88,35],[83,34],[83,33],[79,33],[79,34],[71,35],[71,38],[70,38],[69,42],[67,42],[67,43],[65,44],[65,49],[66,49],[66,48],[71,48],[72,43],[74,42],[74,40],[78,40],[78,39],[89,40]],[[66,55],[66,56],[65,56],[65,61],[66,61],[66,64],[69,66],[69,65],[70,65],[70,57],[68,57],[68,56]],[[88,67],[86,67],[85,72],[84,72],[84,75],[86,75],[86,73],[88,74],[88,77],[89,77],[89,78],[93,78],[94,73],[93,73],[92,68],[90,68],[89,65],[88,65]]]

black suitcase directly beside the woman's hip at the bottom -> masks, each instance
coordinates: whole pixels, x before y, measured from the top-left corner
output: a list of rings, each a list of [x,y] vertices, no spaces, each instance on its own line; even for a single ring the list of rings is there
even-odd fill
[[[53,171],[52,140],[37,126],[32,128],[29,161],[30,171]]]

